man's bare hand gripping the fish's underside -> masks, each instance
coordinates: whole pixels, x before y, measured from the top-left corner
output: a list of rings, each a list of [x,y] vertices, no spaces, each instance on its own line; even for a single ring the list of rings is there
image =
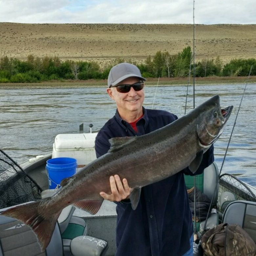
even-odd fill
[[[111,202],[120,202],[121,200],[129,198],[132,188],[129,187],[126,179],[123,182],[120,180],[118,175],[109,177],[111,194],[106,194],[105,192],[100,192],[99,194],[106,200]]]

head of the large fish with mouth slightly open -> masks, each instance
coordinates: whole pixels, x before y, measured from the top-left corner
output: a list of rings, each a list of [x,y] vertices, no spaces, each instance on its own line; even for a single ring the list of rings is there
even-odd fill
[[[199,106],[200,115],[197,118],[197,135],[199,145],[209,148],[221,136],[233,106],[222,108],[220,96],[215,95]]]

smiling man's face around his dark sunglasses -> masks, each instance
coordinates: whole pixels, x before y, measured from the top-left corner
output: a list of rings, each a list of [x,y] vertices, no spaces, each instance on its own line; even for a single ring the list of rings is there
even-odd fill
[[[138,77],[129,77],[118,83],[121,84],[134,84],[141,81]],[[142,111],[142,103],[144,101],[144,91],[135,91],[132,87],[128,93],[119,93],[117,88],[107,88],[109,96],[116,101],[117,110],[119,115],[128,114],[129,112],[140,112]]]

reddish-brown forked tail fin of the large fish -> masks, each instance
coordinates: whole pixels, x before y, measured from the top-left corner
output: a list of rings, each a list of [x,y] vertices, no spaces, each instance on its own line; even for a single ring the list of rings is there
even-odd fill
[[[61,213],[61,210],[54,213],[49,212],[47,207],[49,200],[50,198],[46,198],[17,205],[1,213],[1,215],[14,218],[30,226],[36,235],[42,252],[51,241],[56,222]]]

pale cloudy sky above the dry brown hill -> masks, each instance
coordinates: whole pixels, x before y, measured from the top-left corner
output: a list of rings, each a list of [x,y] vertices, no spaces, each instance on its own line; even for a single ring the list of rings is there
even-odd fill
[[[256,24],[255,0],[195,0],[195,24]],[[0,22],[193,24],[193,0],[0,0]]]

